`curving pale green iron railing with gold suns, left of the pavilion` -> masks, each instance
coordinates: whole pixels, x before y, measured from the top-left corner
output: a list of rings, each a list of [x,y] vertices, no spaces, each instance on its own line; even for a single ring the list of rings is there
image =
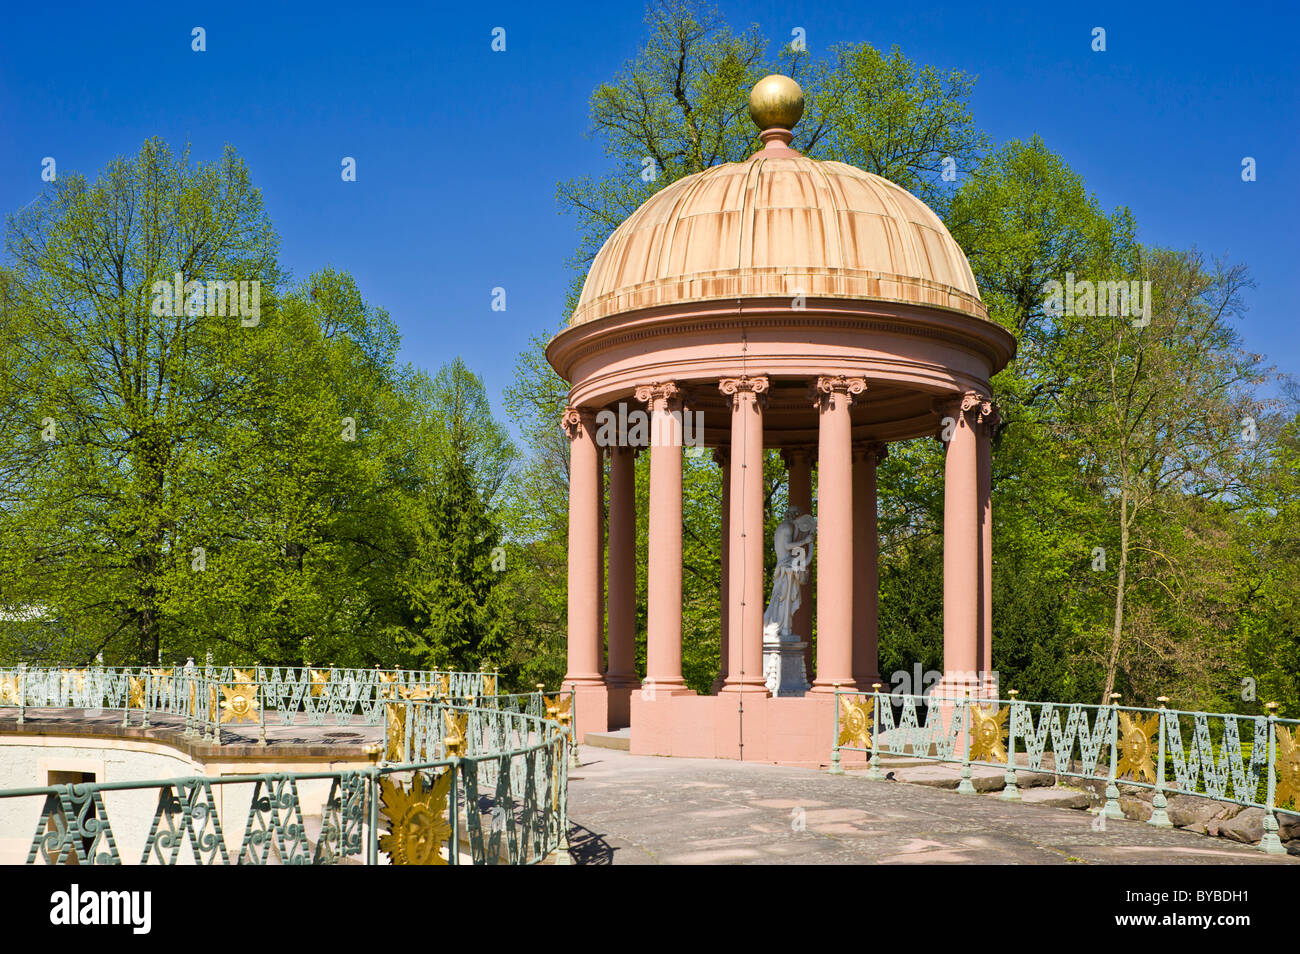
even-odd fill
[[[222,721],[240,719],[256,720],[265,742],[268,714],[384,725],[380,763],[355,771],[0,790],[0,845],[34,825],[29,864],[568,860],[572,694],[495,694],[491,673],[273,667],[23,669],[4,680],[0,706],[17,707],[20,721],[36,706],[121,708],[124,724],[139,714],[144,725],[150,712],[170,714],[186,734],[218,743]],[[221,701],[200,704],[217,691]]]

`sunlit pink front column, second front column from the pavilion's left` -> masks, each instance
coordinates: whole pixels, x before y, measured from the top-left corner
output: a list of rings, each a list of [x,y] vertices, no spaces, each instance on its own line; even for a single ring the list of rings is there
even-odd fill
[[[681,390],[642,385],[650,407],[650,533],[646,561],[646,677],[655,693],[684,691],[681,678]]]

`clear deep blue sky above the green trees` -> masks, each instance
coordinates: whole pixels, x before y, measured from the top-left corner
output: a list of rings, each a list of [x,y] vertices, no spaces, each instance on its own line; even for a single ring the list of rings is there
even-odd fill
[[[887,9],[879,9],[885,6]],[[1245,343],[1300,376],[1295,4],[722,3],[775,44],[900,44],[979,74],[976,122],[1041,134],[1149,243],[1251,265]],[[552,329],[575,224],[555,183],[599,173],[588,97],[632,57],[644,3],[14,5],[0,36],[0,209],[40,162],[94,173],[151,135],[250,164],[295,274],[350,270],[403,334],[403,359],[462,355],[500,402],[515,357]],[[208,49],[190,49],[190,30]],[[506,29],[507,49],[490,49]],[[1091,49],[1105,27],[1105,53]],[[342,182],[343,156],[358,181]],[[1258,178],[1244,183],[1242,157]],[[507,311],[490,309],[507,290]]]

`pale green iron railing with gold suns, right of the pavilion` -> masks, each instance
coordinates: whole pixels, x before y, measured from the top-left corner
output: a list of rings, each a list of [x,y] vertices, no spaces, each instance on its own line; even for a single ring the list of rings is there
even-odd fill
[[[1277,810],[1300,807],[1300,720],[1017,699],[836,693],[831,772],[841,751],[870,753],[866,776],[883,779],[881,755],[959,763],[957,790],[974,794],[971,766],[1005,769],[1000,798],[1015,801],[1018,772],[1104,781],[1100,814],[1123,818],[1119,782],[1150,789],[1148,824],[1173,827],[1166,793],[1264,810],[1260,849],[1284,854]]]

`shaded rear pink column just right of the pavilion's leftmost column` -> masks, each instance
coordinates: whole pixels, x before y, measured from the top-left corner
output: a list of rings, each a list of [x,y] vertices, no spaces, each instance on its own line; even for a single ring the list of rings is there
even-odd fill
[[[640,684],[636,672],[637,626],[636,450],[610,451],[610,668],[604,684],[625,689]]]

